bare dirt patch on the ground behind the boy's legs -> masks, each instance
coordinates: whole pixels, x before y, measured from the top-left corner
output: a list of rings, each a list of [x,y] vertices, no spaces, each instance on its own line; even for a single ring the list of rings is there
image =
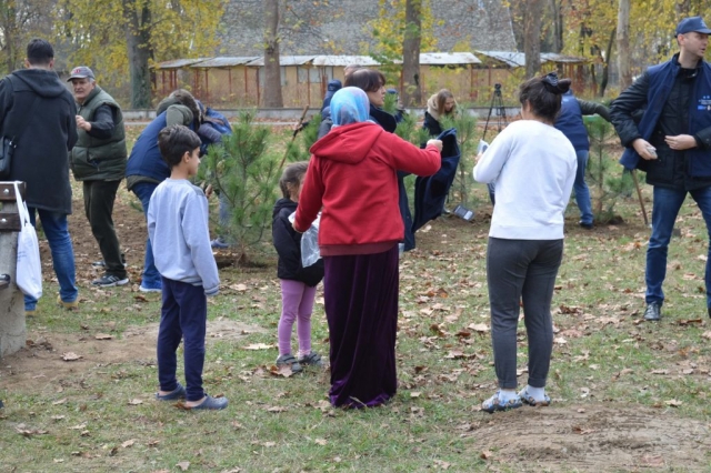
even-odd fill
[[[263,329],[231,320],[208,323],[208,344],[216,340],[239,340]],[[0,360],[0,380],[4,388],[26,392],[53,392],[57,381],[89,373],[100,366],[121,363],[156,364],[158,323],[131,326],[121,339],[97,340],[89,334],[36,332],[28,334],[27,346]],[[81,356],[64,361],[66,353]]]

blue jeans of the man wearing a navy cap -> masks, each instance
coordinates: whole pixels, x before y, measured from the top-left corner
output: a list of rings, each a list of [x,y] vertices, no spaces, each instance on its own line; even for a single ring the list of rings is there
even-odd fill
[[[679,209],[687,198],[687,192],[691,194],[699,205],[703,220],[707,222],[707,232],[711,235],[711,187],[683,191],[654,187],[654,203],[652,207],[652,235],[649,239],[647,249],[647,303],[664,303],[664,292],[662,283],[667,276],[667,250],[671,240],[671,232],[674,229],[674,221],[679,214]],[[707,306],[711,306],[711,249],[707,254],[705,290]]]

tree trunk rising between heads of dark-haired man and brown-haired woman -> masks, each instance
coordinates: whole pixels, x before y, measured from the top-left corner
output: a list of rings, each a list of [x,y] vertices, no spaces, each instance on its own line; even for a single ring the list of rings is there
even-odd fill
[[[422,42],[422,0],[407,0],[404,23],[404,40],[402,41],[402,103],[405,107],[421,105],[420,43]]]

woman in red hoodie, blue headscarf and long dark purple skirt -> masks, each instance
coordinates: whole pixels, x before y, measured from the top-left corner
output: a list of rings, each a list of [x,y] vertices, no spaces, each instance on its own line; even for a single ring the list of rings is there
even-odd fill
[[[293,227],[303,232],[322,210],[331,342],[331,404],[375,406],[397,391],[398,242],[404,227],[397,171],[431,175],[442,142],[421,150],[369,121],[368,95],[347,87],[331,99],[331,131],[311,147]]]

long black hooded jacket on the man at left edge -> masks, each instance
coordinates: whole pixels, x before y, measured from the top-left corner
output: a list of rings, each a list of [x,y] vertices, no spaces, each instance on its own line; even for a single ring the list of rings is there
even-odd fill
[[[23,113],[37,111],[29,120]],[[11,113],[11,123],[6,123]],[[77,142],[77,107],[57,73],[22,69],[0,81],[0,132],[19,137],[9,180],[27,182],[27,204],[50,212],[71,213],[69,150]],[[27,122],[24,130],[12,123]]]

